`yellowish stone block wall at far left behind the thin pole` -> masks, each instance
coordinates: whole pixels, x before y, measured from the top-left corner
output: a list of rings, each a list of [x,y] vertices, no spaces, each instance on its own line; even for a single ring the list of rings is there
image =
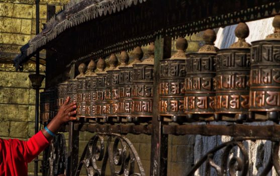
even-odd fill
[[[35,36],[34,3],[29,0],[0,1],[0,138],[4,139],[28,140],[34,134],[35,90],[28,75],[35,71],[35,64],[27,63],[23,72],[16,72],[11,61],[20,52],[20,47]],[[40,2],[40,29],[46,23],[47,3],[59,10],[66,1]],[[44,72],[45,69],[40,66],[40,70]],[[28,171],[33,175],[34,162],[28,164]]]

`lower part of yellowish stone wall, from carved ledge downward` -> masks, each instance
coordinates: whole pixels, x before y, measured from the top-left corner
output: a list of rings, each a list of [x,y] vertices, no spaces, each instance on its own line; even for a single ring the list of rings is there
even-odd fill
[[[34,135],[35,90],[28,75],[35,71],[35,64],[25,64],[24,68],[23,72],[16,72],[13,64],[0,63],[0,138],[26,141]],[[44,67],[40,69],[43,71]],[[33,165],[29,164],[30,173]]]

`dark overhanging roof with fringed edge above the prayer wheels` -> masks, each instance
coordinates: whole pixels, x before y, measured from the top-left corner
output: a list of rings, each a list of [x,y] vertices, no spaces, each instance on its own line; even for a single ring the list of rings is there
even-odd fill
[[[89,57],[98,58],[147,44],[159,35],[185,36],[278,13],[280,2],[273,0],[70,2],[22,47],[14,63],[18,69],[37,50],[47,49],[51,56],[47,54],[47,62],[56,70],[63,70]]]

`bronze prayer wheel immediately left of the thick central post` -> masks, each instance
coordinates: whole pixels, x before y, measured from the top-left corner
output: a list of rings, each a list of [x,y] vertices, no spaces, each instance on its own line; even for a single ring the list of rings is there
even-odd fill
[[[150,121],[152,119],[153,102],[153,66],[154,44],[148,49],[149,57],[143,62],[133,64],[133,93],[132,93],[132,116],[135,122]],[[135,58],[143,57],[140,46],[133,50]]]

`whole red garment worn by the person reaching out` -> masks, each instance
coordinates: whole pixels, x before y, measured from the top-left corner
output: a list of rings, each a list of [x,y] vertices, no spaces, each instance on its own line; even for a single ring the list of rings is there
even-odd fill
[[[0,139],[0,176],[27,176],[27,163],[48,145],[42,131],[28,141]]]

